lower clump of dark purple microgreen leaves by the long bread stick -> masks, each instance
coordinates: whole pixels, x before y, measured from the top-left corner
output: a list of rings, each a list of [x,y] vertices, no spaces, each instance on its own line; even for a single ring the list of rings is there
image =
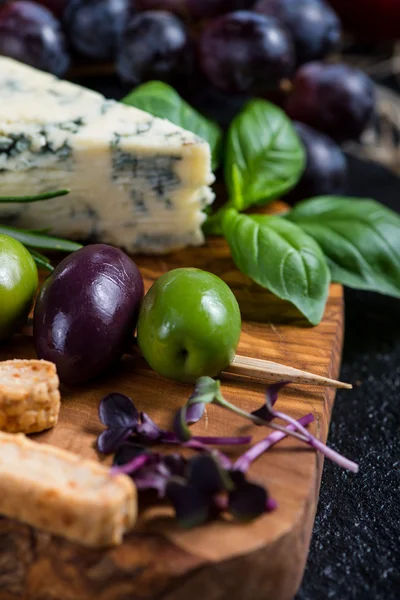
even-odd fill
[[[230,461],[225,466],[220,456],[212,451],[187,459],[125,443],[115,455],[112,473],[130,475],[138,490],[155,490],[160,498],[167,497],[182,527],[201,525],[223,511],[249,520],[271,510],[267,492],[248,482],[244,473],[232,470]]]

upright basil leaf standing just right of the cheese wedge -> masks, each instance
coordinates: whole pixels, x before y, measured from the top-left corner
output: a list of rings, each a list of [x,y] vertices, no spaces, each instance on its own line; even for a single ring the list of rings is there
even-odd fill
[[[305,150],[289,117],[265,100],[251,100],[227,137],[225,179],[238,210],[263,205],[299,181]]]

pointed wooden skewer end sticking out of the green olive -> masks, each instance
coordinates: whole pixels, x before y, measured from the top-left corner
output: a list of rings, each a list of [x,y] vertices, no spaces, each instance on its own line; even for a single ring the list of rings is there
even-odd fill
[[[233,363],[225,369],[224,375],[241,375],[242,377],[252,377],[261,381],[290,381],[345,390],[351,390],[353,387],[349,383],[329,379],[329,377],[321,377],[307,371],[300,371],[300,369],[280,365],[270,360],[239,355],[236,355]]]

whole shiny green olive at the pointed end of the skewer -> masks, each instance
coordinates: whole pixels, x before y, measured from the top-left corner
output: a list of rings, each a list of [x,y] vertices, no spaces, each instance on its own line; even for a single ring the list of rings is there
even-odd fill
[[[138,344],[149,365],[164,377],[195,382],[215,377],[234,359],[241,317],[222,279],[201,269],[161,275],[143,300]]]

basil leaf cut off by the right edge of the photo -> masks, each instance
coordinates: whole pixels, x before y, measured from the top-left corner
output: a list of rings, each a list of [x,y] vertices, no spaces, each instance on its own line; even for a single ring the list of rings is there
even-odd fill
[[[400,217],[375,200],[322,196],[286,215],[321,246],[333,281],[400,298]]]

